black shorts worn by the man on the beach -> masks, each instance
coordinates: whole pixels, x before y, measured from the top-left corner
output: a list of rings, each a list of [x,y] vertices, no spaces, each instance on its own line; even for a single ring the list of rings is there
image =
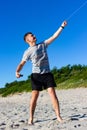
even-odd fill
[[[38,91],[47,89],[49,87],[56,87],[56,83],[54,81],[52,73],[45,73],[45,74],[32,73],[31,84],[32,84],[32,90],[38,90]]]

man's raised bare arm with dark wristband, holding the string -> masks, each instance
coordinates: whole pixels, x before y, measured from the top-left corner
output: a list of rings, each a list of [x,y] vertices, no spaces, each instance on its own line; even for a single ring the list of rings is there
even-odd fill
[[[58,28],[58,30],[47,40],[45,40],[45,43],[47,45],[49,45],[50,43],[52,43],[58,36],[59,34],[62,32],[62,30],[64,29],[64,27],[67,25],[67,22],[64,21],[61,26]]]

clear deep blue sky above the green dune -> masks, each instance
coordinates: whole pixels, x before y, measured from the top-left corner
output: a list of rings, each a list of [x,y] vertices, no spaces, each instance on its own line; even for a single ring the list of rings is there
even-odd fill
[[[23,41],[31,31],[37,42],[49,38],[86,0],[3,0],[0,1],[0,87],[31,74],[27,62],[15,77],[15,70],[28,45]],[[68,64],[87,65],[87,4],[68,21],[61,35],[48,47],[50,68]]]

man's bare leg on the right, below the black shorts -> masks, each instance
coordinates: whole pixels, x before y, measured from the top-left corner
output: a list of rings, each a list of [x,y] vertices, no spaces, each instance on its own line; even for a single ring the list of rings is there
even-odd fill
[[[59,122],[63,122],[63,119],[61,118],[60,116],[60,107],[59,107],[59,101],[58,101],[58,98],[56,96],[56,92],[55,92],[55,89],[50,87],[48,88],[48,93],[51,97],[51,101],[52,101],[52,104],[53,104],[53,108],[55,110],[55,113],[57,115],[57,120]]]

